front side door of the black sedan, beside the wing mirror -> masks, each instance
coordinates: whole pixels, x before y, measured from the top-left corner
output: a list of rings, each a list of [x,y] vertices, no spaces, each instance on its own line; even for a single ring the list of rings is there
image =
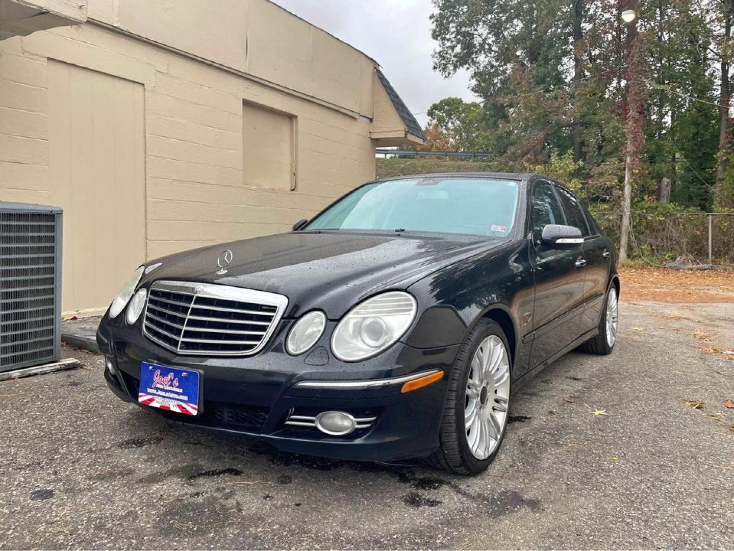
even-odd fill
[[[547,360],[578,336],[584,303],[584,253],[553,249],[540,236],[548,224],[567,224],[553,185],[537,180],[533,187],[531,223],[535,272],[535,308],[531,366]]]

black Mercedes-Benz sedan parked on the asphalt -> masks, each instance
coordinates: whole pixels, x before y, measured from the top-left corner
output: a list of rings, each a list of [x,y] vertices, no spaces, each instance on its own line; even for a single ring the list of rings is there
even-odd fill
[[[539,175],[376,180],[275,236],[140,266],[98,329],[112,391],[180,423],[474,474],[512,390],[609,354],[611,241]]]

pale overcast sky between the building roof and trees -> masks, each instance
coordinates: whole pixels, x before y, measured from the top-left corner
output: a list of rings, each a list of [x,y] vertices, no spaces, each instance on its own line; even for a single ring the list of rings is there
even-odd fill
[[[454,95],[474,100],[462,71],[444,79],[433,70],[430,0],[274,0],[377,60],[418,123],[432,103]]]

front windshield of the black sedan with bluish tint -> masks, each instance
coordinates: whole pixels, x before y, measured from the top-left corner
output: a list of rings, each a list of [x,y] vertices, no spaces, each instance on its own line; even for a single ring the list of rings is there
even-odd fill
[[[306,230],[399,230],[506,236],[519,186],[490,178],[368,183],[316,216]]]

